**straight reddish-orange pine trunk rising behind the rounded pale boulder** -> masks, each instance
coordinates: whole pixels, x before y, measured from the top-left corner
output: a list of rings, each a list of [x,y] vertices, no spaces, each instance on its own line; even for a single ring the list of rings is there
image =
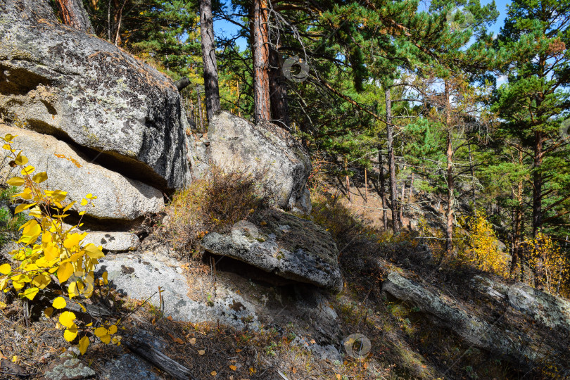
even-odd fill
[[[253,0],[251,36],[253,43],[253,99],[255,122],[271,119],[269,80],[269,28],[267,0]]]

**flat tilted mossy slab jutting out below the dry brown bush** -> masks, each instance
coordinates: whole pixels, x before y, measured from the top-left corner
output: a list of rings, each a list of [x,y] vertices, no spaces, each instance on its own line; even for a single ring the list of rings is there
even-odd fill
[[[270,210],[243,223],[231,234],[204,236],[202,247],[286,279],[313,284],[329,291],[343,289],[338,249],[329,232],[309,220]]]

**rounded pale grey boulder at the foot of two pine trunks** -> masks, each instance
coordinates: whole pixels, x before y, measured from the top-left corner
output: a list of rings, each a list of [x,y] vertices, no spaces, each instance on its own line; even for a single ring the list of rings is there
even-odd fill
[[[305,187],[310,156],[289,132],[267,122],[254,125],[222,111],[208,125],[208,140],[211,164],[265,177],[265,186],[279,207],[310,210]]]

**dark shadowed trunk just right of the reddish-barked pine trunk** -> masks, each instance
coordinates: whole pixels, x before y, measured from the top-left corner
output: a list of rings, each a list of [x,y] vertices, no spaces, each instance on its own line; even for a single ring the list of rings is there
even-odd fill
[[[287,85],[281,75],[283,58],[275,50],[270,48],[270,101],[271,115],[273,120],[279,120],[277,125],[289,127],[289,105],[287,103]]]

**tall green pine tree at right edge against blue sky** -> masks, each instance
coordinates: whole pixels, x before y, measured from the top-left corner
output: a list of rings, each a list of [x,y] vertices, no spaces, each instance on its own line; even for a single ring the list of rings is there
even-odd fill
[[[570,213],[570,173],[562,165],[568,142],[560,133],[570,114],[569,13],[568,0],[513,1],[498,38],[510,52],[509,82],[499,89],[495,110],[509,134],[533,151],[534,237],[546,222]]]

